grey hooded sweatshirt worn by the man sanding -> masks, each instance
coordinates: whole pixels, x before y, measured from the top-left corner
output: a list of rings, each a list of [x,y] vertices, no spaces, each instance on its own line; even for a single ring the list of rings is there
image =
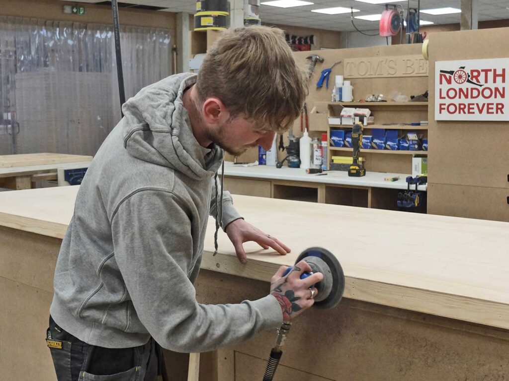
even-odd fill
[[[50,313],[84,342],[123,348],[152,336],[169,350],[205,352],[282,323],[271,295],[196,302],[192,283],[209,213],[216,214],[214,175],[223,154],[192,134],[182,96],[195,81],[174,75],[129,99],[80,185]],[[240,218],[228,192],[222,209],[223,227]]]

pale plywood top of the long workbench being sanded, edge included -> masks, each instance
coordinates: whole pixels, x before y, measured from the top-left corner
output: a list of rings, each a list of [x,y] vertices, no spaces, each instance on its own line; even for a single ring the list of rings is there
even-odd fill
[[[0,194],[0,226],[62,238],[78,186]],[[438,215],[236,196],[254,226],[292,248],[287,256],[246,243],[248,264],[219,234],[212,256],[209,221],[202,268],[270,280],[310,246],[340,260],[345,296],[382,305],[509,329],[509,223]]]

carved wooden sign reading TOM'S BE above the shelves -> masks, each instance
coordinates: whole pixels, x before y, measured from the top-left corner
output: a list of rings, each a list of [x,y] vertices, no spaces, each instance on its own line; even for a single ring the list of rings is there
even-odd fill
[[[428,61],[420,54],[345,59],[347,78],[425,77]]]

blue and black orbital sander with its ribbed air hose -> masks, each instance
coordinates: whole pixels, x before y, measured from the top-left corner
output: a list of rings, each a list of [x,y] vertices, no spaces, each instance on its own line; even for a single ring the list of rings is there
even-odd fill
[[[336,257],[328,250],[322,247],[311,247],[304,250],[295,261],[295,264],[304,260],[307,262],[309,267],[313,270],[313,273],[321,272],[323,274],[323,280],[316,283],[312,287],[316,287],[318,290],[317,296],[315,297],[315,303],[313,307],[328,309],[334,308],[343,297],[345,291],[345,275],[340,262]],[[284,276],[288,275],[293,267],[289,267]],[[312,273],[304,272],[300,278],[305,279]],[[283,322],[281,327],[277,330],[276,345],[270,352],[269,362],[265,369],[263,381],[272,381],[274,374],[279,364],[279,360],[282,356],[282,346],[285,343],[286,336],[290,331],[292,323]]]

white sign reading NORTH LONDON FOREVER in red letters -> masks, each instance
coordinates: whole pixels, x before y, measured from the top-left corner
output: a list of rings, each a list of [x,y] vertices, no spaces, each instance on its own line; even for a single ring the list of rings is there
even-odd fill
[[[436,120],[509,120],[509,58],[435,63]]]

